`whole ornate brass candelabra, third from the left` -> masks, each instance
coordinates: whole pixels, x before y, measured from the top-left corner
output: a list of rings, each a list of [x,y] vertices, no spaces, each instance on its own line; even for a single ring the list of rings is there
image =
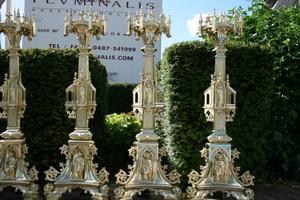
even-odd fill
[[[159,20],[155,19],[153,11],[146,15],[140,10],[134,17],[128,15],[128,34],[135,32],[137,39],[144,42],[144,69],[141,82],[134,89],[134,111],[139,112],[143,120],[143,129],[137,134],[137,141],[129,149],[133,157],[133,165],[129,166],[129,174],[120,170],[116,174],[115,189],[117,199],[129,200],[136,193],[151,190],[161,194],[165,199],[179,199],[181,191],[173,184],[180,182],[180,174],[173,170],[167,174],[167,166],[161,165],[162,156],[166,156],[165,148],[159,149],[159,136],[154,132],[155,115],[162,109],[161,95],[155,78],[154,52],[155,42],[161,34],[170,37],[171,21],[161,13]]]

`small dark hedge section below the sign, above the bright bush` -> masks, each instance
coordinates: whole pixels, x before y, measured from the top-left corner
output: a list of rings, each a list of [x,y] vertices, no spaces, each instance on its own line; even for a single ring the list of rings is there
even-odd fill
[[[137,84],[114,83],[108,85],[107,114],[132,111],[132,90]]]

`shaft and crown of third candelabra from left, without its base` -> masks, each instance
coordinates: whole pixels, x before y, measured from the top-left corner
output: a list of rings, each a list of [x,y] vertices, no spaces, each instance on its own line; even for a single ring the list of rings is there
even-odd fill
[[[159,137],[154,133],[154,112],[158,109],[156,105],[161,102],[157,96],[157,81],[155,78],[154,69],[154,53],[156,48],[155,42],[160,38],[162,33],[165,33],[167,37],[171,37],[171,20],[170,17],[166,21],[166,17],[163,13],[160,14],[160,19],[156,20],[153,11],[150,10],[144,17],[144,13],[140,10],[139,14],[134,17],[128,15],[128,34],[131,35],[135,32],[136,38],[142,39],[144,47],[142,51],[145,53],[144,68],[142,74],[140,88],[140,104],[142,109],[143,119],[143,131],[137,135],[139,141],[157,141]],[[135,108],[135,106],[134,106]]]

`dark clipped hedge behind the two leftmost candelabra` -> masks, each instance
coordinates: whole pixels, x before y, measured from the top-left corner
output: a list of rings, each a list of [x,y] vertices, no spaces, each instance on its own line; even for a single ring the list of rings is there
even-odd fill
[[[78,51],[30,49],[20,54],[22,82],[27,91],[21,130],[29,147],[27,159],[30,165],[37,166],[42,181],[44,171],[51,165],[59,168],[59,162],[65,162],[59,147],[67,144],[68,135],[74,130],[74,120],[67,118],[64,104],[65,88],[73,82],[74,72],[77,72]],[[0,82],[3,84],[4,73],[8,70],[6,51],[0,51],[0,60]],[[90,55],[89,63],[92,83],[97,89],[97,110],[90,127],[98,147],[101,145],[99,136],[104,132],[107,73],[94,56]],[[5,128],[6,120],[1,120],[1,131]],[[98,157],[96,161],[99,162]]]

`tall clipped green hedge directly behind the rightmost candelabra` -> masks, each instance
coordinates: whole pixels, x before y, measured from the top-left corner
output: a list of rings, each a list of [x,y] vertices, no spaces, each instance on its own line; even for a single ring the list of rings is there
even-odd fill
[[[203,160],[198,153],[207,142],[212,123],[203,113],[203,92],[210,86],[214,70],[212,45],[198,41],[172,45],[160,66],[165,87],[164,143],[171,163],[183,175],[199,169]],[[258,46],[229,46],[227,73],[231,86],[237,91],[237,114],[228,123],[233,148],[241,151],[237,162],[242,170],[250,170],[257,179],[267,173],[273,95],[272,55]]]

